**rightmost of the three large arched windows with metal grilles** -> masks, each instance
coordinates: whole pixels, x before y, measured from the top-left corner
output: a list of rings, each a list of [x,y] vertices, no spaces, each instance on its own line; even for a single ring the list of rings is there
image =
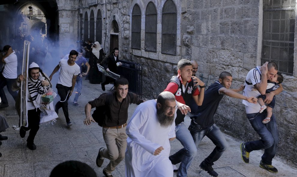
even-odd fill
[[[162,53],[176,55],[176,6],[167,0],[162,10]]]

